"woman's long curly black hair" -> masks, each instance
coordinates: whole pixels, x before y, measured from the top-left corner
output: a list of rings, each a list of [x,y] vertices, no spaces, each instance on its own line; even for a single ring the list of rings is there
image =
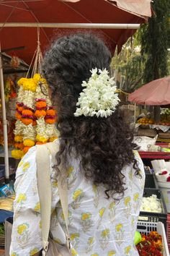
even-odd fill
[[[86,179],[104,185],[107,197],[115,193],[123,195],[121,171],[124,166],[133,163],[138,174],[133,132],[118,109],[107,118],[73,114],[83,89],[82,81],[89,80],[93,68],[109,70],[111,59],[109,49],[97,36],[77,33],[55,40],[45,53],[42,65],[58,111],[61,142],[56,155],[58,165],[66,161],[71,152],[76,152]]]

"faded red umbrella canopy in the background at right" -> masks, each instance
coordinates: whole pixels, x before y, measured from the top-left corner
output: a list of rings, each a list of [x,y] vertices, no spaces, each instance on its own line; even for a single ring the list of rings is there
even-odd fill
[[[128,97],[132,101],[141,105],[161,106],[170,104],[170,76],[153,80],[143,85]]]

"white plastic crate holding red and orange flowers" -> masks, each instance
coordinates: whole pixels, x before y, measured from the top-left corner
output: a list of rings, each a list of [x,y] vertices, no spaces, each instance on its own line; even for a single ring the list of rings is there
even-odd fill
[[[166,233],[164,229],[164,224],[161,222],[146,222],[138,221],[137,230],[141,234],[149,234],[151,231],[157,231],[158,234],[162,236],[162,244],[164,247],[163,256],[169,256],[169,247],[166,240]]]

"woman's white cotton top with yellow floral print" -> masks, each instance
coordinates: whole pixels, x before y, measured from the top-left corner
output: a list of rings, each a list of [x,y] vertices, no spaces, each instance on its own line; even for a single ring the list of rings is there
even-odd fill
[[[138,161],[140,176],[135,176],[133,165],[126,166],[122,170],[122,174],[125,175],[125,194],[122,198],[115,195],[120,200],[112,198],[107,200],[104,187],[95,186],[84,179],[80,171],[79,159],[70,159],[67,170],[68,230],[71,236],[72,255],[138,255],[133,240],[143,197],[145,173],[138,152],[134,152],[134,157]],[[63,243],[65,242],[63,231],[66,227],[51,157],[50,163],[52,184],[50,231],[55,242]],[[42,249],[36,147],[31,148],[20,161],[15,189],[10,256],[34,255]]]

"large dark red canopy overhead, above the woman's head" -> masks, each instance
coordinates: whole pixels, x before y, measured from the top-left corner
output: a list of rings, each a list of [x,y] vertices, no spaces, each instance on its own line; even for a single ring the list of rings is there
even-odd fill
[[[126,23],[140,24],[151,16],[150,0],[1,0],[0,23],[6,22],[47,22],[47,23]],[[55,33],[63,33],[55,30]],[[134,29],[102,29],[112,53],[118,51]],[[50,43],[54,35],[53,28],[42,28],[40,42],[42,50]],[[17,51],[17,55],[30,63],[37,45],[35,27],[0,27],[1,48],[26,46],[26,51]]]

